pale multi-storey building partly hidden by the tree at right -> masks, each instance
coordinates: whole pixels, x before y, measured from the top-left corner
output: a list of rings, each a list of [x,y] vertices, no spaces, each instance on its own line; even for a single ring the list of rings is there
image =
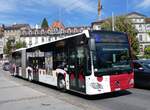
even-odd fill
[[[139,41],[140,54],[144,54],[144,48],[150,46],[150,18],[137,12],[132,12],[126,15],[131,20],[133,26],[137,30],[137,39]],[[101,24],[106,20],[96,21],[92,23],[93,30],[101,30]]]

